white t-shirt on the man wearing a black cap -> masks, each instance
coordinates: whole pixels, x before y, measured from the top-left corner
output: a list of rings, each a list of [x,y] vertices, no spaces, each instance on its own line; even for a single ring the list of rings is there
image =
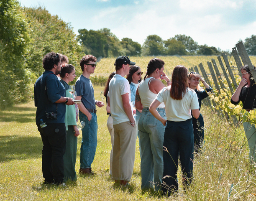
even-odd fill
[[[130,121],[123,109],[123,101],[121,96],[126,93],[129,94],[129,103],[131,106],[131,111],[133,111],[129,81],[124,77],[115,74],[115,76],[110,80],[108,92],[108,97],[110,99],[110,112],[111,117],[113,118],[113,125]]]

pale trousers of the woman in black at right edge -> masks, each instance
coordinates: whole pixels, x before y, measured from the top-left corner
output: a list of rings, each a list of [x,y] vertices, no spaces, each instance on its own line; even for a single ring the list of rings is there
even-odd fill
[[[249,122],[243,122],[243,129],[246,133],[246,138],[248,140],[249,145],[249,158],[251,162],[256,163],[256,128],[255,124],[251,124]]]

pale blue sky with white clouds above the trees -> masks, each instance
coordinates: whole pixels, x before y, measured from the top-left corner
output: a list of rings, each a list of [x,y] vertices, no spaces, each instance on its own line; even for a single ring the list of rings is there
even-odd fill
[[[44,6],[78,29],[109,28],[120,40],[143,44],[151,34],[163,40],[185,34],[199,45],[232,50],[239,39],[256,35],[255,0],[19,0]]]

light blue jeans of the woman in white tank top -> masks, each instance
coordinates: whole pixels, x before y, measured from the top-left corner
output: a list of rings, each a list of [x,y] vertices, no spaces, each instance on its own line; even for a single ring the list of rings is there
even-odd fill
[[[156,109],[166,119],[165,109]],[[148,107],[143,108],[138,122],[141,140],[141,189],[160,189],[163,176],[164,125],[157,120]]]

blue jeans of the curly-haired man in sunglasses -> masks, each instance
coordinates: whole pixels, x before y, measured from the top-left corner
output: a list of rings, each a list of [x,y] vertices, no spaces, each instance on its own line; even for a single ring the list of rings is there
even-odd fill
[[[87,116],[79,111],[79,120],[84,122],[85,126],[82,129],[82,143],[80,149],[80,168],[91,168],[96,147],[97,147],[97,115],[92,114],[92,119],[88,121]]]

